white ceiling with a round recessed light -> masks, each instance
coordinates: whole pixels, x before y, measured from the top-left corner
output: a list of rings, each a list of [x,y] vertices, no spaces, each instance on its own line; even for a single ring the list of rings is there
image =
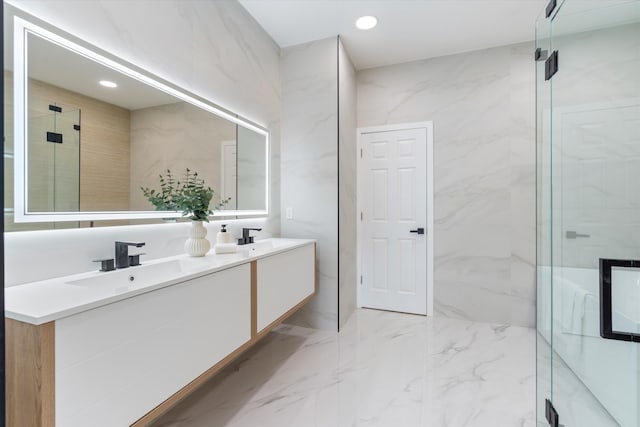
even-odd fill
[[[356,69],[534,39],[548,0],[239,0],[280,47],[340,35]],[[362,15],[378,18],[356,29]]]

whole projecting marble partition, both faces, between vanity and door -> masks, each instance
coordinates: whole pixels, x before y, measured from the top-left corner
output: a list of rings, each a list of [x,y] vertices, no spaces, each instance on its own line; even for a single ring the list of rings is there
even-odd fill
[[[283,49],[281,72],[282,234],[318,242],[318,294],[290,321],[336,330],[356,308],[355,69],[331,37]]]

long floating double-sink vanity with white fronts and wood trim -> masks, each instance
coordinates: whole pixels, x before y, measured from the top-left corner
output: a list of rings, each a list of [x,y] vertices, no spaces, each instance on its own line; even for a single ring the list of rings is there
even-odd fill
[[[268,239],[8,288],[8,425],[147,425],[312,298],[315,275],[314,241]]]

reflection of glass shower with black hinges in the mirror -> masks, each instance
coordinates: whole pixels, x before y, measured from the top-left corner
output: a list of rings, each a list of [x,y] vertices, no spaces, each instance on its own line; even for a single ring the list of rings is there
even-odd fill
[[[80,109],[50,102],[46,111],[29,117],[29,207],[79,210]]]

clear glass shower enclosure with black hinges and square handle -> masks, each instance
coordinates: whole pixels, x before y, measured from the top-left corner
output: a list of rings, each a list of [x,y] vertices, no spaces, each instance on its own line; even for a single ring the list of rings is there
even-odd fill
[[[640,1],[553,3],[536,22],[537,423],[640,426]]]

